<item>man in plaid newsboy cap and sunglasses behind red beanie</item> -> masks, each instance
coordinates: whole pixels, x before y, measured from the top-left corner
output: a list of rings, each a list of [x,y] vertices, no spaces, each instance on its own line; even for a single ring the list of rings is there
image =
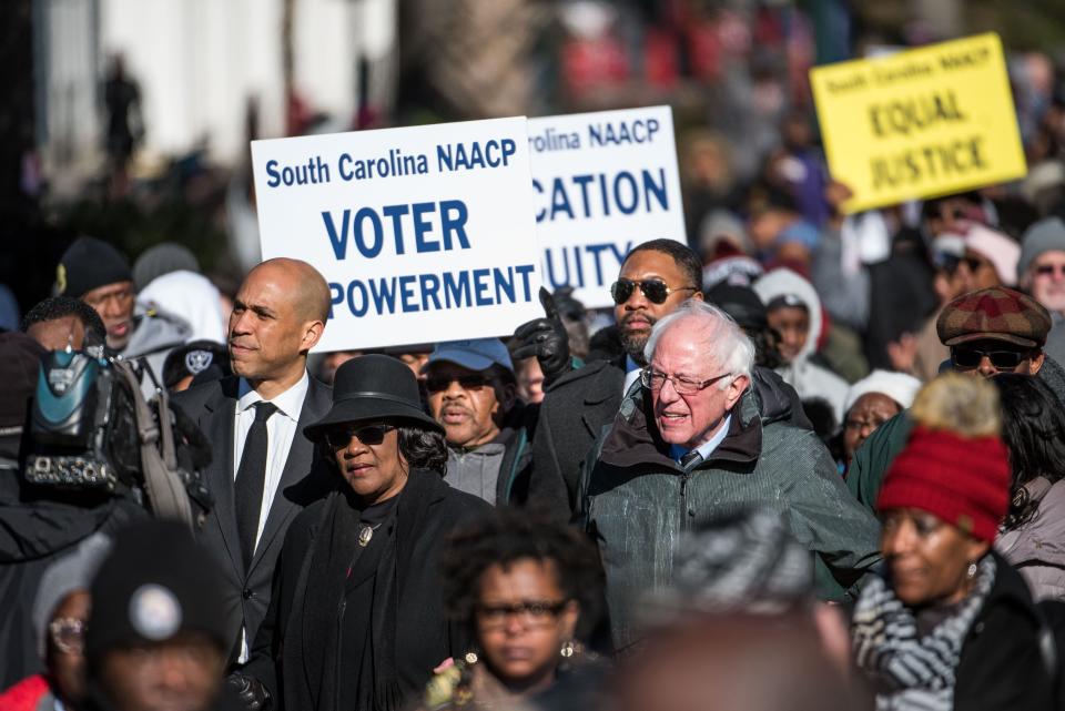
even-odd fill
[[[1005,286],[958,296],[943,307],[936,332],[950,359],[944,367],[973,377],[1016,373],[1043,379],[1065,406],[1065,368],[1044,346],[1051,315],[1034,298]],[[902,451],[913,429],[909,410],[876,428],[854,453],[846,485],[858,500],[873,509],[888,467]]]

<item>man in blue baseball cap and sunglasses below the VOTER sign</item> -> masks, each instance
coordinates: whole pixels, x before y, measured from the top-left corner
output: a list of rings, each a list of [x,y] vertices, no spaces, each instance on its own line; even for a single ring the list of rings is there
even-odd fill
[[[517,397],[506,345],[498,338],[440,343],[423,373],[429,414],[447,438],[448,484],[489,504],[523,504],[536,408]]]

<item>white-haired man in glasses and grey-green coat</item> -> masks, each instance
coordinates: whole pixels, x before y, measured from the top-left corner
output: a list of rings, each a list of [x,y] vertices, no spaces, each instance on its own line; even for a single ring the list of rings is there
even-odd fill
[[[754,348],[719,308],[689,301],[663,317],[592,450],[579,517],[599,546],[617,651],[639,641],[638,601],[669,585],[681,534],[753,506],[777,511],[840,599],[878,560],[878,526],[816,436],[750,388]]]

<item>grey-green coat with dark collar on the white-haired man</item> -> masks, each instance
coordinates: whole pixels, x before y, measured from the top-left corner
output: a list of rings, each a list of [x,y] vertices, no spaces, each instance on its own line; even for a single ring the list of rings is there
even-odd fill
[[[819,576],[822,598],[839,599],[879,560],[879,526],[848,492],[828,449],[787,421],[787,398],[759,395],[741,396],[728,435],[693,470],[671,459],[649,427],[650,398],[640,387],[589,455],[578,519],[599,546],[618,651],[638,641],[640,596],[670,582],[681,535],[704,521],[751,506],[775,509],[831,571]]]

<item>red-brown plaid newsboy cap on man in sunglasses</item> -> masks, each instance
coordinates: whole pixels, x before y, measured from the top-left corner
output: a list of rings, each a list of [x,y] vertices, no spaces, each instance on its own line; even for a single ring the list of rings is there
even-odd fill
[[[1034,298],[1004,286],[958,296],[943,307],[935,331],[945,346],[993,338],[1041,348],[1051,329],[1051,315]]]

